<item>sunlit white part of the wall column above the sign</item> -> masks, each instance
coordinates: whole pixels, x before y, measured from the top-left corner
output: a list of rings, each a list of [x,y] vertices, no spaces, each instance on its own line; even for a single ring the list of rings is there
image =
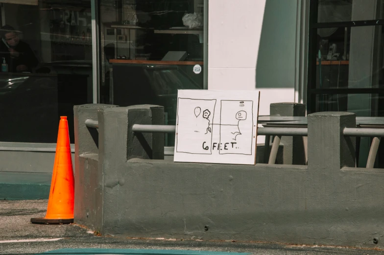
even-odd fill
[[[208,89],[255,90],[265,0],[210,0]]]

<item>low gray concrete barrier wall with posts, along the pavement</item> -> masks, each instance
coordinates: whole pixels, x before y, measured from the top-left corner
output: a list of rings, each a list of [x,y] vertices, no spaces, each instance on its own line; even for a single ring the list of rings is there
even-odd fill
[[[76,223],[135,237],[384,247],[383,170],[355,168],[355,139],[342,135],[354,114],[308,117],[308,167],[151,160],[131,126],[158,115],[148,105],[98,110],[98,152],[81,142],[76,152]],[[161,137],[144,135],[160,156]]]

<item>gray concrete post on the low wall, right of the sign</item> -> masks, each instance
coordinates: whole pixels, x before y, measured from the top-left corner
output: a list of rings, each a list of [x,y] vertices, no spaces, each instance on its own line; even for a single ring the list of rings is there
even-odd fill
[[[308,116],[308,169],[316,171],[355,167],[356,139],[344,137],[344,128],[356,127],[356,115],[322,112]]]

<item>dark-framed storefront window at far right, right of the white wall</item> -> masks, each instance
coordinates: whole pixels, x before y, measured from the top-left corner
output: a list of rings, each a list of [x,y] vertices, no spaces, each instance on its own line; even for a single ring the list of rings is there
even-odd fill
[[[384,116],[384,0],[310,3],[307,113]],[[360,167],[370,143],[361,138]],[[383,150],[380,145],[379,154]]]

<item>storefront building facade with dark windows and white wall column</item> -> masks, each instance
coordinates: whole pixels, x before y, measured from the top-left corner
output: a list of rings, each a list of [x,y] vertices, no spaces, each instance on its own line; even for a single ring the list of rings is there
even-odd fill
[[[382,116],[383,2],[2,0],[0,174],[48,176],[59,117],[73,143],[79,104],[158,104],[172,125],[178,89],[259,90],[260,115],[298,102]],[[17,64],[12,37],[38,64]]]

